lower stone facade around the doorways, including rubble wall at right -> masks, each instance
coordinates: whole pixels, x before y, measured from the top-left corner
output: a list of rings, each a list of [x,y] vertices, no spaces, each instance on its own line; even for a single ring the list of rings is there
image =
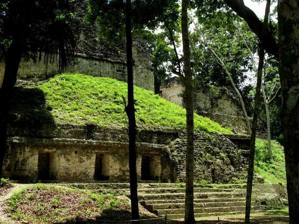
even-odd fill
[[[31,123],[30,121],[28,123]],[[242,178],[246,156],[229,138],[215,133],[197,133],[195,138],[196,178],[229,182]],[[137,170],[149,163],[149,179],[182,181],[185,170],[185,135],[177,129],[141,129],[137,136]],[[3,175],[10,179],[38,179],[39,153],[49,153],[49,176],[53,180],[98,180],[97,154],[102,154],[103,180],[129,179],[128,131],[126,128],[94,124],[27,125],[23,119],[10,121]],[[246,173],[246,172],[245,172]]]

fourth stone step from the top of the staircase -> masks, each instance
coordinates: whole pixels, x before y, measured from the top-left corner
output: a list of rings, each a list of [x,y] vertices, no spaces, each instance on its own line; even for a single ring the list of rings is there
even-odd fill
[[[194,199],[194,203],[204,203],[204,202],[240,202],[245,201],[246,198],[204,198],[204,199]],[[173,199],[173,200],[147,200],[140,201],[142,205],[145,204],[171,204],[171,203],[185,203],[184,199]]]

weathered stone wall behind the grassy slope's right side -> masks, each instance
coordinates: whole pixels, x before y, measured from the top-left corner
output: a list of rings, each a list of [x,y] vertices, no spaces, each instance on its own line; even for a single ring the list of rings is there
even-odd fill
[[[166,80],[160,88],[161,97],[183,106],[183,85],[177,77]],[[194,110],[238,134],[247,134],[246,122],[238,100],[226,88],[194,86]]]

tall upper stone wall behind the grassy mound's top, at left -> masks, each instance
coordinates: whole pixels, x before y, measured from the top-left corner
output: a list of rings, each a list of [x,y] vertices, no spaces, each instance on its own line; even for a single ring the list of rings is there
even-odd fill
[[[77,42],[76,58],[66,72],[82,73],[100,77],[111,77],[127,81],[126,53],[123,47],[108,46],[99,40],[99,27],[86,23],[84,0],[75,1],[72,29]],[[153,91],[153,69],[147,46],[142,41],[133,41],[134,84]],[[0,61],[0,85],[5,64]],[[17,79],[41,81],[58,74],[56,63],[45,65],[43,61],[22,60]]]

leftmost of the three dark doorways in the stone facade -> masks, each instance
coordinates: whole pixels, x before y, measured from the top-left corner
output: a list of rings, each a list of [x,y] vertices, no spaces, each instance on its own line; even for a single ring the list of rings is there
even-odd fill
[[[51,153],[49,152],[39,152],[38,153],[38,180],[50,180],[50,161]]]

